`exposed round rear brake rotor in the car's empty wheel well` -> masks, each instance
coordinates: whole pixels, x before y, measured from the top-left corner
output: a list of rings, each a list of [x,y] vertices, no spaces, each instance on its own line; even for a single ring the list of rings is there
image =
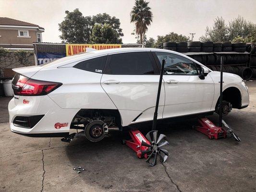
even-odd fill
[[[105,137],[104,122],[94,120],[85,127],[85,137],[91,142],[99,142]]]

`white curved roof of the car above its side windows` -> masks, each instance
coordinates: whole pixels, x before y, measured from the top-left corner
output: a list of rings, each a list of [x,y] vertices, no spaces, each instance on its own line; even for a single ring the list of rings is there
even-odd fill
[[[134,51],[158,51],[158,52],[169,52],[174,53],[176,55],[183,56],[185,58],[188,58],[186,55],[183,55],[182,53],[171,51],[167,49],[160,49],[160,48],[111,48],[111,49],[102,49],[102,50],[93,50],[90,52],[83,52],[79,54],[75,54],[72,56],[67,56],[55,61],[50,62],[49,64],[43,65],[43,68],[58,68],[61,66],[67,66],[69,64],[72,64],[77,61],[87,60],[90,58],[96,58],[108,54],[115,54],[115,53],[124,53],[124,52],[134,52]],[[68,66],[67,66],[68,67]]]

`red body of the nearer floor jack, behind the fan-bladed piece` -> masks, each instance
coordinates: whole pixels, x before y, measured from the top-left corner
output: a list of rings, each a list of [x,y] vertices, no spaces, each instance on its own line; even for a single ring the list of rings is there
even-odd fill
[[[147,159],[147,154],[145,154],[144,156],[141,154],[141,151],[146,151],[148,147],[146,146],[142,146],[141,142],[144,141],[147,144],[150,144],[149,141],[146,139],[146,137],[144,137],[144,135],[139,131],[139,130],[134,130],[134,131],[130,131],[129,132],[130,136],[131,136],[131,140],[126,140],[125,143],[128,147],[130,147],[131,149],[133,149],[137,156],[142,159],[143,157],[145,157]]]

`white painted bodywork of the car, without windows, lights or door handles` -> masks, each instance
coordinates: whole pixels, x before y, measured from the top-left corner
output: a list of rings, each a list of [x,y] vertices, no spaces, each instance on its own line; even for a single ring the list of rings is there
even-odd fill
[[[60,82],[62,85],[46,96],[15,96],[18,99],[13,98],[8,106],[11,130],[27,134],[69,132],[70,123],[81,108],[118,109],[122,126],[152,120],[159,75],[108,75],[73,68],[82,60],[134,51],[161,51],[193,60],[181,53],[163,49],[119,48],[65,57],[44,66],[14,69],[32,79]],[[120,84],[104,84],[104,81],[110,80]],[[179,83],[167,84],[168,80]],[[239,76],[223,73],[223,81],[223,90],[232,86],[239,89],[242,107],[249,104],[248,90]],[[158,119],[213,111],[218,98],[219,72],[209,69],[205,80],[194,75],[164,75]],[[23,104],[23,99],[29,100],[29,104]],[[133,122],[140,113],[142,115]],[[13,125],[12,121],[18,115],[45,116],[32,129],[25,129]],[[68,126],[55,129],[56,122],[67,122]]]

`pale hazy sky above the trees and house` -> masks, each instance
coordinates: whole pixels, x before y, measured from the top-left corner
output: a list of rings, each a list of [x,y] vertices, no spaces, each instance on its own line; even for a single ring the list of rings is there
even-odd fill
[[[146,32],[147,38],[175,32],[185,36],[195,33],[194,40],[205,34],[216,17],[225,21],[238,15],[256,23],[256,0],[147,0],[153,12],[153,22]],[[65,11],[78,8],[83,15],[108,13],[120,19],[123,43],[135,43],[131,33],[130,12],[134,0],[0,0],[0,17],[10,17],[38,24],[45,28],[43,42],[59,43],[58,24]]]

